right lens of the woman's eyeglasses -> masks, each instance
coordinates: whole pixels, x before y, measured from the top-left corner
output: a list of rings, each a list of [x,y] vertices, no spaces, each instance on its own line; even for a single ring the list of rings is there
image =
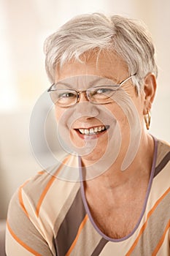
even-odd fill
[[[112,96],[119,86],[102,86],[88,89],[88,98],[90,102],[106,104],[112,102]]]

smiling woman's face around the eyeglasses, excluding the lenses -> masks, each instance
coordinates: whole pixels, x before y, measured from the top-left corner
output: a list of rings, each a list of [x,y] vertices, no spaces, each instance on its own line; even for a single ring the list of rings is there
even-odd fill
[[[119,84],[129,77],[127,65],[115,53],[101,52],[97,60],[96,56],[85,57],[85,63],[70,61],[56,70],[58,88],[84,91],[94,86]],[[110,157],[113,162],[118,156],[125,159],[129,148],[133,152],[135,147],[138,149],[143,106],[144,93],[137,96],[131,79],[115,91],[108,104],[93,104],[81,93],[80,101],[71,107],[55,105],[63,147],[66,144],[71,152],[90,163],[102,158],[110,162]]]

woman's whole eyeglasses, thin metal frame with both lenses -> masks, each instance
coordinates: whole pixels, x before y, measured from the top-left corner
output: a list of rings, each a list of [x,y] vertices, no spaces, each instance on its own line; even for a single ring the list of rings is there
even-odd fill
[[[136,74],[134,74],[136,75]],[[108,104],[113,102],[112,95],[115,94],[115,91],[127,82],[134,75],[126,78],[119,84],[107,85],[107,86],[95,86],[83,91],[76,91],[73,89],[58,89],[56,84],[53,83],[52,86],[47,90],[50,92],[50,97],[55,105],[58,105],[61,108],[70,107],[75,105],[80,101],[80,94],[85,93],[86,99],[93,104]]]

